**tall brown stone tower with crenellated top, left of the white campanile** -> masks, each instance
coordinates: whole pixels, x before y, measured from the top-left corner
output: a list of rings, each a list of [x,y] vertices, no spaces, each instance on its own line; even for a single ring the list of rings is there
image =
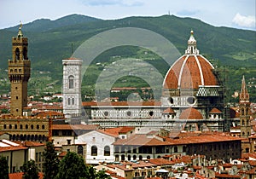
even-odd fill
[[[27,57],[27,38],[23,37],[20,24],[17,37],[12,38],[12,60],[8,62],[11,85],[10,113],[22,116],[27,106],[27,82],[30,78],[30,60]]]

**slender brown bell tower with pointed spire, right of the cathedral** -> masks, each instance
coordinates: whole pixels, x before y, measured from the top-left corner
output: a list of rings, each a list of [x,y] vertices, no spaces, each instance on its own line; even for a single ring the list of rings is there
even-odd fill
[[[247,85],[244,76],[241,81],[241,93],[239,96],[240,107],[240,128],[241,137],[251,136],[251,122],[250,122],[250,101],[249,94],[247,92]]]

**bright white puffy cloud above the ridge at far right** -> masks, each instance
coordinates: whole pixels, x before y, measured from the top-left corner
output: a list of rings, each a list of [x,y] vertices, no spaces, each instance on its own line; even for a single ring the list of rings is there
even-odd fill
[[[249,27],[249,28],[250,27],[255,28],[255,23],[256,23],[254,16],[252,15],[244,16],[239,13],[235,15],[232,22],[234,22],[238,26]]]

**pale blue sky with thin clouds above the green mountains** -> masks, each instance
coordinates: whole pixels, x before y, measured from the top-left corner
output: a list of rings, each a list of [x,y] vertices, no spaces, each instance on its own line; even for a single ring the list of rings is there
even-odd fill
[[[84,14],[103,20],[174,14],[213,26],[256,30],[256,0],[0,0],[0,29],[37,19]]]

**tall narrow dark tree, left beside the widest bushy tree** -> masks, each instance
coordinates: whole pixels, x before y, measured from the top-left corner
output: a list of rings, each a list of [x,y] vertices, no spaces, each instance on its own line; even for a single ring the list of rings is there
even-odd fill
[[[44,148],[44,179],[52,179],[58,173],[59,169],[59,159],[57,153],[55,153],[55,148],[52,142],[48,141],[46,147]]]

